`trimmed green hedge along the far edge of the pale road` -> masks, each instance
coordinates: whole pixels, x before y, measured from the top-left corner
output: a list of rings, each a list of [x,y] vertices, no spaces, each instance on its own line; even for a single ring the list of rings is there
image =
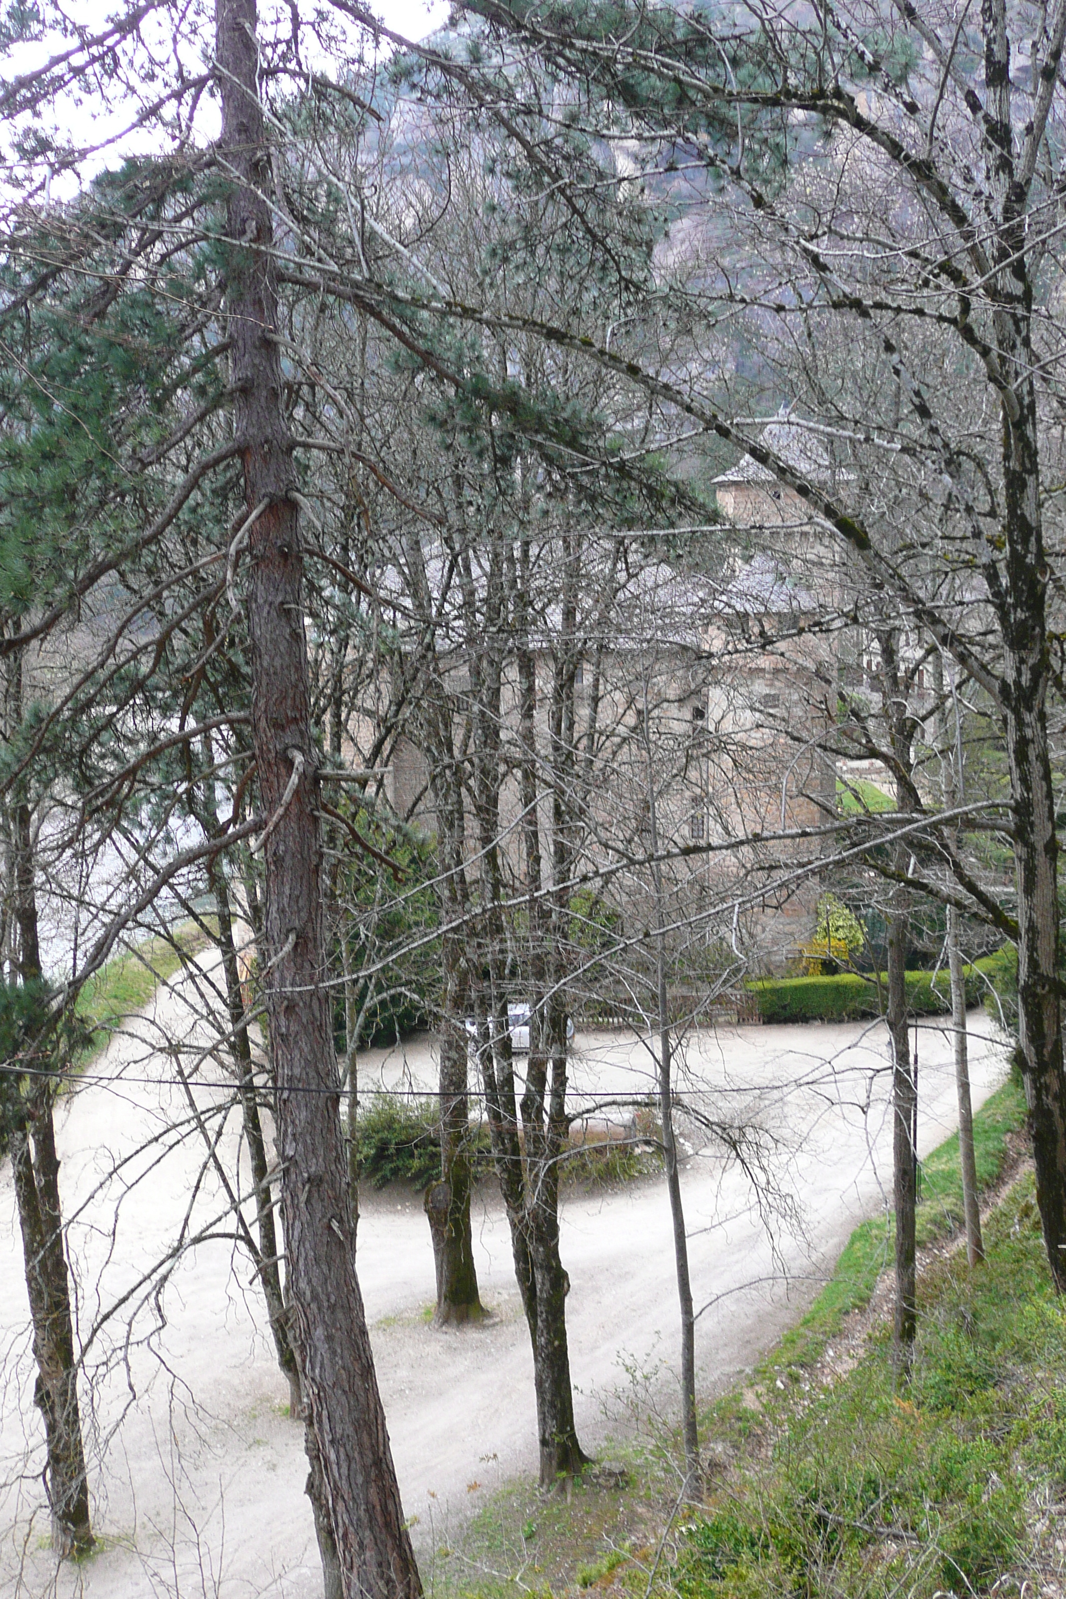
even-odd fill
[[[1016,956],[1010,945],[986,955],[965,967],[967,1006],[991,999],[989,988],[1004,995],[1008,1011],[1010,958]],[[1016,979],[1015,979],[1016,985]],[[873,977],[858,972],[841,972],[837,977],[764,977],[750,982],[761,1022],[857,1022],[866,1015],[881,1015],[885,1001],[884,979],[881,991]],[[906,1003],[913,1015],[951,1014],[951,980],[948,971],[906,974]],[[992,1001],[994,1004],[994,1001]]]

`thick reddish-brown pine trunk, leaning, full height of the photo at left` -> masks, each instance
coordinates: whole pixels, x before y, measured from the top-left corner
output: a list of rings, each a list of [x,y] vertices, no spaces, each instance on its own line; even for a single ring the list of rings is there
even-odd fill
[[[304,1402],[345,1599],[414,1599],[363,1298],[340,1130],[321,892],[318,780],[300,606],[300,539],[273,334],[270,181],[254,0],[217,0],[235,433],[249,513],[253,737],[264,811],[267,1015],[276,1081],[281,1215]],[[315,1452],[312,1452],[312,1469]],[[323,1551],[326,1554],[326,1551]]]

